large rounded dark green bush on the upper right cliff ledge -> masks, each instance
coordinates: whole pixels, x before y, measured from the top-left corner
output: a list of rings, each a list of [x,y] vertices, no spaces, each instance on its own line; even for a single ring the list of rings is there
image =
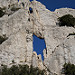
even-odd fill
[[[70,27],[75,26],[75,18],[70,14],[59,17],[58,20],[59,20],[59,26],[70,26]]]

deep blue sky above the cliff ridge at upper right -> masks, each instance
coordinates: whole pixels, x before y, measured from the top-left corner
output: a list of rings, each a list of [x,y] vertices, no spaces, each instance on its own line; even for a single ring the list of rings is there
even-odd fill
[[[75,9],[75,0],[36,0],[44,4],[49,10],[54,11],[57,8],[69,7]]]

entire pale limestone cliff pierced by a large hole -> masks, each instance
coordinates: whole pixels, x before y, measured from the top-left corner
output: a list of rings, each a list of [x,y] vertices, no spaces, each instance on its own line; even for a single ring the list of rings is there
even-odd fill
[[[75,64],[75,28],[58,26],[58,17],[71,14],[75,9],[61,8],[49,11],[38,1],[0,0],[5,12],[0,17],[0,36],[7,37],[0,44],[0,64],[28,64],[48,70],[50,75],[61,75],[63,64]],[[43,38],[46,49],[41,55],[33,52],[33,34]]]

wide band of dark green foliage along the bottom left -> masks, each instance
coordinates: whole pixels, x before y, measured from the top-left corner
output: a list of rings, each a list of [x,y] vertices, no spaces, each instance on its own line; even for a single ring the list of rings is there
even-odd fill
[[[1,75],[46,75],[45,70],[40,70],[39,68],[33,68],[28,65],[13,65],[10,68],[7,66],[2,67]]]

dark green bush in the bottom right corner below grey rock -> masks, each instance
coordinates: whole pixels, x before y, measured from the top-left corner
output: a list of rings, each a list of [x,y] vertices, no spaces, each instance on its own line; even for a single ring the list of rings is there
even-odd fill
[[[65,75],[75,75],[75,65],[71,63],[64,64],[64,73]]]

